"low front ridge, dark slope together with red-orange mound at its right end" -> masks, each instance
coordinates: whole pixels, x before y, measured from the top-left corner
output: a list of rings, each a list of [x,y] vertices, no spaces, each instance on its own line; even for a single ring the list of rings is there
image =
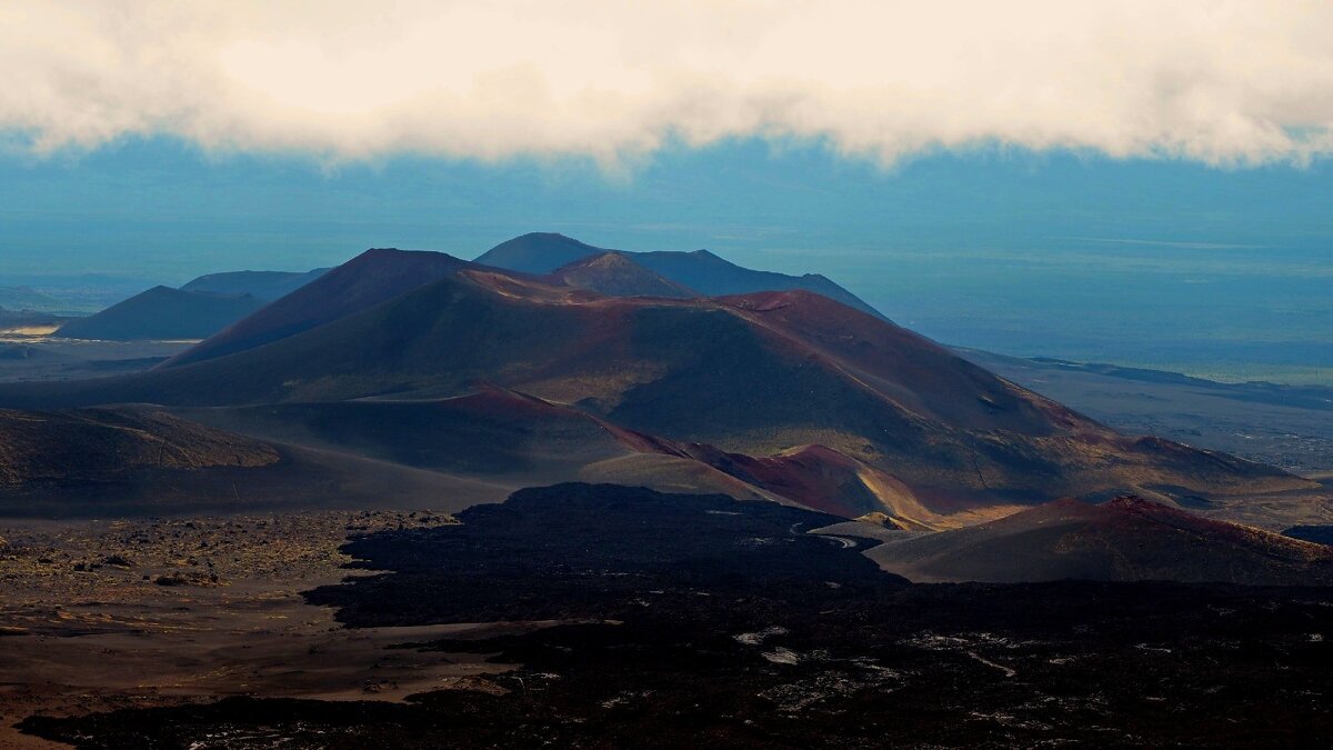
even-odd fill
[[[232,432],[485,480],[580,478],[765,498],[857,516],[886,512],[952,526],[888,475],[822,446],[752,458],[635,432],[579,410],[496,387],[428,402],[323,402],[177,408]]]

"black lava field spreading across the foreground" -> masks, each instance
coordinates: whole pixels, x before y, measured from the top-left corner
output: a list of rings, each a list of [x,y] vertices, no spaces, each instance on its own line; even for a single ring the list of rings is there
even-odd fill
[[[1333,735],[1333,590],[912,585],[838,519],[613,486],[524,490],[344,548],[351,627],[532,622],[407,703],[227,698],[28,718],[85,749],[1300,747]],[[461,658],[461,657],[460,657]],[[504,671],[500,665],[520,665]]]

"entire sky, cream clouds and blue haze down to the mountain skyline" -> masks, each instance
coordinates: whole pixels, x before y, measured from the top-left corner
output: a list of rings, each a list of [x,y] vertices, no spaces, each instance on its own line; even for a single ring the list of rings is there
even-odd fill
[[[1324,378],[1328,3],[0,4],[0,284],[525,231],[1012,354]]]

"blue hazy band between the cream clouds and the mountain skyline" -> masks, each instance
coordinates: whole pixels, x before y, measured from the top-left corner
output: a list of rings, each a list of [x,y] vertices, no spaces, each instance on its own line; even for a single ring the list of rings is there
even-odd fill
[[[986,148],[885,169],[820,144],[595,163],[208,155],[172,139],[0,159],[4,278],[472,258],[525,231],[821,272],[941,340],[1221,376],[1333,367],[1333,167]],[[3,280],[3,279],[0,279]]]

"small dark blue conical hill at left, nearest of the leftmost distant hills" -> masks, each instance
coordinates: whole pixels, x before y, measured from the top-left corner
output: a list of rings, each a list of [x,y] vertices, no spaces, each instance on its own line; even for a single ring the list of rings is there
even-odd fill
[[[73,319],[56,332],[67,339],[203,339],[264,306],[249,296],[153,287],[96,315]]]

